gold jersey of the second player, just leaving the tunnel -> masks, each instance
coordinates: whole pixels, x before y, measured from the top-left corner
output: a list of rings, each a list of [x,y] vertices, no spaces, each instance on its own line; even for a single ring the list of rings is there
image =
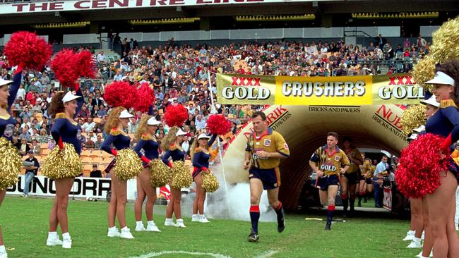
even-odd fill
[[[338,175],[338,173],[340,173],[341,165],[350,165],[345,152],[338,148],[338,146],[332,153],[328,153],[327,145],[316,149],[316,152],[312,154],[310,161],[315,162],[318,169],[320,169],[325,176]]]

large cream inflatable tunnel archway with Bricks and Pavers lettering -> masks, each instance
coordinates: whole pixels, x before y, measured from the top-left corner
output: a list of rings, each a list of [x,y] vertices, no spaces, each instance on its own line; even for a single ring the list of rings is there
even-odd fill
[[[400,116],[403,106],[380,104],[369,106],[269,106],[266,113],[270,128],[281,133],[290,147],[290,159],[280,165],[280,200],[294,209],[309,169],[309,157],[326,144],[326,133],[350,136],[359,148],[385,149],[399,154],[407,145]],[[223,166],[227,183],[248,182],[244,170],[244,149],[252,125],[247,123],[232,139]]]

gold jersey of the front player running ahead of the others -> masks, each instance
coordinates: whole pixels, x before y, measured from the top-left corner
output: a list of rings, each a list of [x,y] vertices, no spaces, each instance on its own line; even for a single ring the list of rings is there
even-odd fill
[[[280,164],[279,158],[260,158],[256,155],[258,151],[278,152],[282,156],[290,156],[290,150],[280,133],[268,128],[266,133],[256,136],[252,133],[247,140],[246,152],[251,154],[251,166],[255,168],[268,169],[277,168]]]

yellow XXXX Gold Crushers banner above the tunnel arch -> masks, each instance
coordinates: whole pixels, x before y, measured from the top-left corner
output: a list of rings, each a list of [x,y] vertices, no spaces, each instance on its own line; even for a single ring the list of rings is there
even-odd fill
[[[220,104],[362,106],[417,104],[424,90],[411,75],[289,77],[217,74]]]

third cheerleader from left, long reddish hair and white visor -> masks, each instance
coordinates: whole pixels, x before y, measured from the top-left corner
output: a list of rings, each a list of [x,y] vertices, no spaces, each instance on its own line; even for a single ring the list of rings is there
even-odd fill
[[[124,107],[117,106],[110,111],[105,123],[105,133],[108,134],[107,138],[102,142],[101,149],[109,154],[117,156],[117,150],[127,149],[131,143],[129,135],[124,133],[124,129],[128,127],[129,118],[133,118]],[[110,147],[114,145],[114,148]],[[121,237],[132,239],[134,238],[131,231],[126,226],[126,180],[119,180],[114,173],[114,166],[116,166],[116,158],[109,164],[106,171],[109,171],[110,178],[112,178],[112,198],[110,199],[108,207],[108,233],[109,238]],[[118,216],[119,226],[121,233],[115,226],[115,217]]]

